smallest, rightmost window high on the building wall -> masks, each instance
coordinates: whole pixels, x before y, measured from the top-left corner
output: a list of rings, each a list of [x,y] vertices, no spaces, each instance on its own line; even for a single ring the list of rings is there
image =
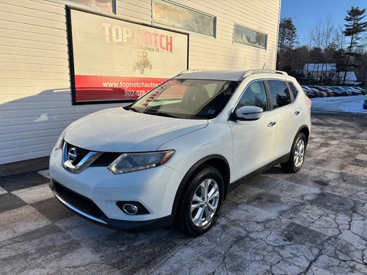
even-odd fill
[[[267,35],[235,24],[233,42],[266,49]]]

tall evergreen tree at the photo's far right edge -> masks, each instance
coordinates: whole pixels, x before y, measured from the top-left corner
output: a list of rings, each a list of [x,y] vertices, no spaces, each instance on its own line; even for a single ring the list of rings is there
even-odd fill
[[[347,21],[347,24],[344,24],[344,36],[350,37],[351,40],[345,53],[347,56],[347,61],[345,64],[343,85],[345,83],[345,79],[347,78],[347,71],[351,65],[351,61],[353,61],[355,58],[358,58],[359,56],[359,53],[356,51],[356,47],[358,47],[358,42],[361,39],[361,33],[366,32],[367,30],[367,22],[362,22],[363,18],[366,17],[366,8],[360,9],[358,6],[356,8],[352,6],[347,13],[348,16],[344,18],[344,20]]]

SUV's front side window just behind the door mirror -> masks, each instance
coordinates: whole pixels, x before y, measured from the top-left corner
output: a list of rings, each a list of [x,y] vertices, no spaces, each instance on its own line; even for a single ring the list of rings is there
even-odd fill
[[[235,111],[243,106],[257,106],[267,111],[267,97],[263,81],[255,81],[246,87],[242,94],[239,104],[237,104]]]

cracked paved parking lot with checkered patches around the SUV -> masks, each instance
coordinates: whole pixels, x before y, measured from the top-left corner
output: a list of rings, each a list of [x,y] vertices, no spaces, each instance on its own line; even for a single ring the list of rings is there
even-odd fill
[[[38,173],[0,178],[0,274],[367,274],[366,116],[313,116],[299,173],[231,192],[199,238],[71,214]]]

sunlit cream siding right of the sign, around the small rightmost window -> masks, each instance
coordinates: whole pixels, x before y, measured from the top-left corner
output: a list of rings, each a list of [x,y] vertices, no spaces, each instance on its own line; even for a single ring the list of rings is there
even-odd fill
[[[190,35],[190,68],[275,68],[279,1],[188,1],[176,3],[217,17],[215,38]],[[234,23],[267,34],[267,49],[234,44]]]

